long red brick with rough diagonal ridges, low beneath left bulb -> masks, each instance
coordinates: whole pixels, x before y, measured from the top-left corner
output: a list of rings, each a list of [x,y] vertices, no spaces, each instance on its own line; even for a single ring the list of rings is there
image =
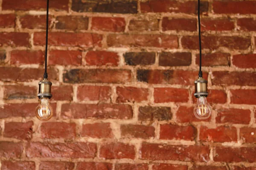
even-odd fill
[[[28,158],[94,158],[96,156],[96,144],[74,143],[40,143],[30,142],[26,146]]]

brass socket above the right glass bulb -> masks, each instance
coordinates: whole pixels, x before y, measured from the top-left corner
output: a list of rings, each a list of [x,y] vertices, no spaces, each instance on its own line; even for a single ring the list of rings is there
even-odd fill
[[[208,92],[207,92],[207,80],[203,79],[202,77],[199,77],[198,79],[195,80],[195,93],[194,96],[196,98],[199,97],[207,97]]]

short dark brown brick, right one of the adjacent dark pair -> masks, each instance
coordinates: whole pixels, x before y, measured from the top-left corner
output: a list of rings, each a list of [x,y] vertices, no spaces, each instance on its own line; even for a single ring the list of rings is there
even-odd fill
[[[161,52],[159,54],[160,66],[186,66],[191,64],[191,53],[188,52]]]

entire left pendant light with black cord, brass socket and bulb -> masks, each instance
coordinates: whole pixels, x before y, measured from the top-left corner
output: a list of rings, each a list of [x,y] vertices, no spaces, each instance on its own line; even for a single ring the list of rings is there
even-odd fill
[[[49,102],[49,99],[52,97],[52,94],[51,94],[52,82],[47,80],[48,78],[48,74],[47,74],[48,17],[49,17],[49,0],[47,0],[44,79],[38,83],[39,105],[35,109],[35,115],[41,121],[47,121],[51,119],[53,115],[52,107],[50,106],[50,102]]]

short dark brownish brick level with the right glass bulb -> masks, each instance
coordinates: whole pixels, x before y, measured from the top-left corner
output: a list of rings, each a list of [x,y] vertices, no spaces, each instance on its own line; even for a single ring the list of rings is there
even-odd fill
[[[141,106],[139,108],[139,120],[170,120],[172,111],[169,107]]]

